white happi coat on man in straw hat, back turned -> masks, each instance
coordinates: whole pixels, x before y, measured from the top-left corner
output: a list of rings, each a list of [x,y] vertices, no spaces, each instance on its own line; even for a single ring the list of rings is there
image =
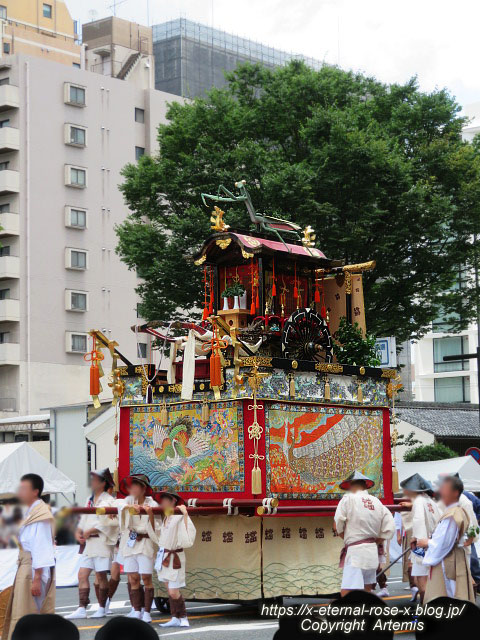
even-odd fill
[[[343,533],[345,546],[366,538],[390,540],[395,533],[395,521],[390,511],[367,491],[343,496],[335,512],[338,533]],[[345,564],[359,569],[378,567],[378,547],[374,542],[348,547]]]

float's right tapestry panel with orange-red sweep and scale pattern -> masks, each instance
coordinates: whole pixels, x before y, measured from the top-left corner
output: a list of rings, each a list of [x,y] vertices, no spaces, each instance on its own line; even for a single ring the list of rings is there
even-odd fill
[[[276,403],[266,408],[267,494],[281,499],[338,499],[355,469],[383,496],[381,409]]]

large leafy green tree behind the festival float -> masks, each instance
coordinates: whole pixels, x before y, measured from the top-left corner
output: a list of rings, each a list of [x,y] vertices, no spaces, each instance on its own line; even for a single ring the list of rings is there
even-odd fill
[[[245,65],[225,89],[172,103],[159,155],[128,165],[120,187],[131,214],[117,251],[143,279],[143,315],[201,306],[190,259],[210,232],[200,193],[245,179],[259,211],[310,224],[327,256],[376,260],[364,278],[372,333],[420,337],[440,309],[466,326],[474,287],[455,285],[474,260],[480,153],[458,112],[448,91],[421,92],[416,79],[385,85],[300,62]],[[242,207],[225,218],[249,227]]]

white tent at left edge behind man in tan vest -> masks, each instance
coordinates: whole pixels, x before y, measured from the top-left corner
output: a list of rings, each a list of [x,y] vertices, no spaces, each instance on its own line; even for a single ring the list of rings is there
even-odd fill
[[[0,498],[15,495],[20,478],[37,473],[45,493],[75,493],[76,485],[27,442],[0,445]]]

